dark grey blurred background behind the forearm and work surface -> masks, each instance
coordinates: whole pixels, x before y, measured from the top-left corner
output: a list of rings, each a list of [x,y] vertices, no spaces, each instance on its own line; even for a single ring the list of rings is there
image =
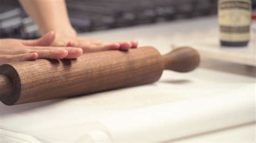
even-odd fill
[[[217,0],[66,0],[78,33],[217,15]],[[0,0],[0,38],[35,39],[38,27],[17,0]],[[253,0],[256,8],[256,0]]]

